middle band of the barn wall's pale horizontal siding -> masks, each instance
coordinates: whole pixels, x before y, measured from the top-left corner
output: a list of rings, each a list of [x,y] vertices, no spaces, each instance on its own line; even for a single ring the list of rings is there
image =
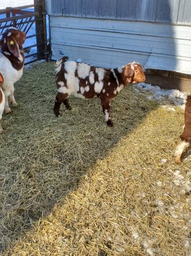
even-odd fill
[[[103,47],[125,49],[128,51],[158,53],[172,56],[185,56],[191,59],[191,41],[172,38],[153,38],[152,36],[116,34],[112,32],[70,30],[54,27],[52,43],[83,47]]]

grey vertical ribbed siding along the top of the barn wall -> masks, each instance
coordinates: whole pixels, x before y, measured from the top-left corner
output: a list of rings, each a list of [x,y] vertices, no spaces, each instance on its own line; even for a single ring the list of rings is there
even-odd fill
[[[50,15],[191,24],[190,0],[46,0]]]

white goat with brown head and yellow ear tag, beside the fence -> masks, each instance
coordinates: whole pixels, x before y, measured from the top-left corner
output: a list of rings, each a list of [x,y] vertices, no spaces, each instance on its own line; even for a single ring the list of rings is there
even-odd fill
[[[2,89],[5,94],[5,112],[11,113],[9,100],[12,106],[17,106],[14,97],[14,83],[23,75],[24,52],[23,43],[26,34],[14,27],[3,33],[0,40],[0,72],[3,76]]]

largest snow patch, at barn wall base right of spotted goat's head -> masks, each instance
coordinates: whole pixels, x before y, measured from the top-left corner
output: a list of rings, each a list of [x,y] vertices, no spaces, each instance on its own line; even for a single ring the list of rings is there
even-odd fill
[[[135,85],[135,89],[143,90],[150,92],[151,95],[148,96],[148,100],[158,100],[158,101],[170,101],[173,102],[176,106],[181,106],[184,108],[186,104],[186,92],[180,92],[180,90],[166,90],[161,89],[159,86],[153,86],[150,84],[145,84],[145,82],[141,82]],[[176,111],[171,109],[172,111]]]

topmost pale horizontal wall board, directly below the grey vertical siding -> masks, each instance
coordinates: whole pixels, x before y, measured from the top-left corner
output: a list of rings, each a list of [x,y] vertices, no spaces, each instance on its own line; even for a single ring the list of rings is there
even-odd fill
[[[149,35],[163,38],[191,40],[191,27],[171,26],[148,22],[50,17],[50,27],[77,28],[79,30],[117,32],[121,34]]]

